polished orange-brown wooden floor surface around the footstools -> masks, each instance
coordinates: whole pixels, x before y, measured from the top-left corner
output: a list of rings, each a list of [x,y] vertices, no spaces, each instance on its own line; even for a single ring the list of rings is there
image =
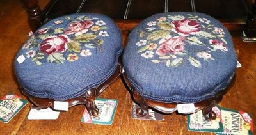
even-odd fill
[[[48,0],[39,1],[40,5]],[[124,39],[128,31],[124,32]],[[0,97],[13,93],[24,97],[13,76],[13,58],[29,33],[26,10],[22,1],[0,2]],[[223,97],[221,107],[252,113],[256,133],[256,44],[243,42],[239,32],[232,32],[241,68],[237,68],[236,82]],[[102,98],[118,99],[118,107],[112,125],[81,123],[84,106],[75,106],[61,112],[58,120],[28,120],[29,104],[10,122],[0,122],[0,134],[206,134],[190,132],[186,116],[164,116],[161,122],[133,120],[130,118],[131,99],[121,79],[109,86]],[[209,133],[207,133],[209,134]]]

